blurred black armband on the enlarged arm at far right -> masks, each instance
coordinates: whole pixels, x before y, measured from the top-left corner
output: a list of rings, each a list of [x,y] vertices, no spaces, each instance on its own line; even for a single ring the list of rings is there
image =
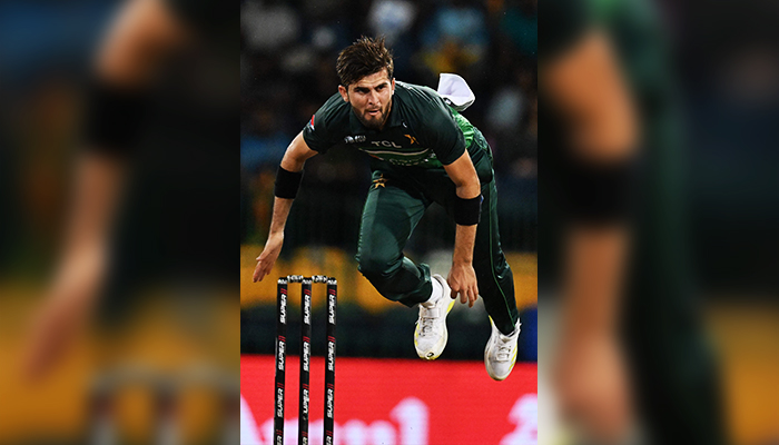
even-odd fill
[[[563,178],[563,210],[572,222],[613,224],[630,215],[635,162],[595,164],[569,159]]]

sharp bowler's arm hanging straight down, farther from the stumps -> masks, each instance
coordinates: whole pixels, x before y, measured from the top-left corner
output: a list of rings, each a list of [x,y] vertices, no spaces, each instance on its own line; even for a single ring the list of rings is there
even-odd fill
[[[457,160],[444,166],[446,174],[456,186],[454,254],[452,269],[446,281],[452,288],[452,298],[460,294],[460,301],[473,307],[479,297],[476,271],[473,269],[473,247],[480,219],[482,195],[476,169],[467,150]]]

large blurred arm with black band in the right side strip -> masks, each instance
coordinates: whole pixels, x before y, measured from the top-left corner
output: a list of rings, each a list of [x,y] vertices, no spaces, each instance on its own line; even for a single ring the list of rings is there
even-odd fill
[[[568,178],[565,192],[570,224],[558,402],[594,438],[619,442],[633,422],[630,376],[618,335],[630,233],[629,205],[618,192],[630,180],[607,179],[610,171],[630,172],[639,138],[637,115],[610,41],[599,31],[581,34],[566,52],[548,61],[543,73],[540,83],[568,122],[573,167],[565,175],[584,178]],[[591,186],[601,182],[611,187]],[[607,211],[593,210],[599,208]]]

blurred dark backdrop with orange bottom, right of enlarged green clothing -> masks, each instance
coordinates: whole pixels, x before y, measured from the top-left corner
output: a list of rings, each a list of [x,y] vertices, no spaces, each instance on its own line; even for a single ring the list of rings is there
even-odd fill
[[[689,241],[738,444],[779,441],[779,11],[662,4],[687,130]]]

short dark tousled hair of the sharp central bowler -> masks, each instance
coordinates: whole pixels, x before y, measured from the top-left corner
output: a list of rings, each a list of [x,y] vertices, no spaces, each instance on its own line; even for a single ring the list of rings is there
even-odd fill
[[[392,79],[395,63],[392,60],[392,52],[384,47],[383,37],[377,39],[361,37],[359,40],[341,51],[335,65],[341,85],[344,87],[385,68],[389,79]]]

